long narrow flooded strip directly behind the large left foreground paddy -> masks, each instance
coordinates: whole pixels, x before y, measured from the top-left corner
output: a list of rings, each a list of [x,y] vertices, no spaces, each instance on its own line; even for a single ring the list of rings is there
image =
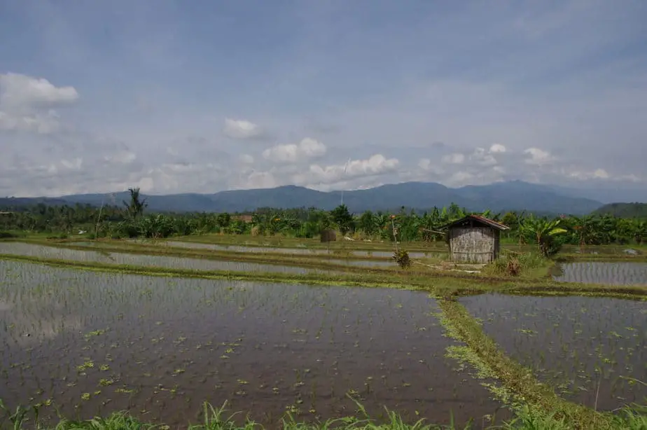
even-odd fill
[[[216,261],[200,258],[146,256],[141,254],[125,254],[106,251],[80,251],[78,249],[46,247],[43,245],[21,242],[0,242],[0,254],[187,270],[232,270],[237,272],[288,272],[299,274],[310,272],[332,273],[330,270],[324,269],[308,269],[260,263],[242,263],[238,261]]]

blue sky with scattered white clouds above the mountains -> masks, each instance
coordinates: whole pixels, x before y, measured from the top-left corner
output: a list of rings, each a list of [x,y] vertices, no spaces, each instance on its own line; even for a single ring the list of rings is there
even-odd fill
[[[0,196],[647,186],[644,0],[0,0]]]

